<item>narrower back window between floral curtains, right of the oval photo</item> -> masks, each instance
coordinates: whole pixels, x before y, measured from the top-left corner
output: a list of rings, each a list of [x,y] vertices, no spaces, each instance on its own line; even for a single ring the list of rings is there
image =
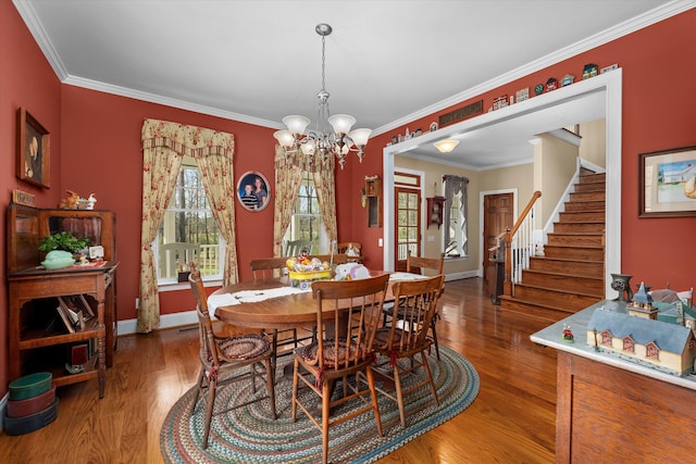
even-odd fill
[[[312,244],[310,254],[319,254],[322,250],[328,250],[328,239],[319,209],[314,176],[309,172],[302,176],[295,204],[295,214],[293,214],[290,225],[283,237],[285,243],[295,240],[309,241]]]

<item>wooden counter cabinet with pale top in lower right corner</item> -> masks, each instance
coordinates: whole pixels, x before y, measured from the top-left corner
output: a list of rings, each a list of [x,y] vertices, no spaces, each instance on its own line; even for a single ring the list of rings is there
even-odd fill
[[[586,328],[604,303],[531,336],[558,350],[556,462],[693,462],[696,376],[596,352],[586,343]],[[574,343],[561,340],[564,325]]]

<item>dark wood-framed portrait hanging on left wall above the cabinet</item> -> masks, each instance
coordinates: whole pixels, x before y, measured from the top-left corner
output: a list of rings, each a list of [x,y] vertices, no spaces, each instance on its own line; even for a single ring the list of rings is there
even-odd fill
[[[17,110],[16,175],[24,181],[51,187],[48,130],[25,108]]]

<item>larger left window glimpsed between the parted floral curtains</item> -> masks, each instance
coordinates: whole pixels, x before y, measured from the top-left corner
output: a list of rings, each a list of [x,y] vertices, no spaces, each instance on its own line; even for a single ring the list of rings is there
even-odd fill
[[[158,233],[154,259],[159,285],[178,281],[178,273],[172,272],[174,265],[176,271],[186,271],[186,256],[167,258],[159,252],[160,246],[175,242],[198,244],[200,251],[196,261],[203,280],[222,279],[225,242],[210,211],[200,173],[191,159],[184,160]]]

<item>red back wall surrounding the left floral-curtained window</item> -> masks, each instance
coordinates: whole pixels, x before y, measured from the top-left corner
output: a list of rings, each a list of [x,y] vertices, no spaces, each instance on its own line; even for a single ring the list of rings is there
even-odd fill
[[[83,197],[94,192],[98,209],[116,213],[119,319],[135,318],[140,260],[142,121],[174,121],[234,134],[235,178],[257,171],[271,184],[275,178],[274,129],[73,86],[63,86],[62,101],[63,186]],[[347,175],[348,172],[336,174],[339,197]],[[247,280],[251,278],[248,263],[252,258],[273,255],[274,205],[257,213],[245,210],[238,202],[235,205],[239,279]],[[186,290],[163,292],[160,306],[162,314],[190,311],[194,298]]]

